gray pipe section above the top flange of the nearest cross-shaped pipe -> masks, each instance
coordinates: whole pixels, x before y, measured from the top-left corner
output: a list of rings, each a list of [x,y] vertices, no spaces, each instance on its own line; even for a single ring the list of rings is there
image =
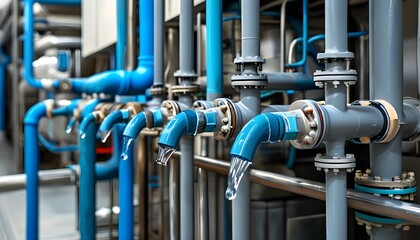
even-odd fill
[[[325,1],[325,53],[347,52],[347,0]]]

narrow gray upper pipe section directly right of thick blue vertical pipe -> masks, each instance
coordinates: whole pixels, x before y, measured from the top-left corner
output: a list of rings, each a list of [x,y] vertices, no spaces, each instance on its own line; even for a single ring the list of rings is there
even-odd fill
[[[164,78],[164,36],[165,36],[165,23],[164,23],[164,0],[154,1],[154,78],[153,85],[163,85]]]

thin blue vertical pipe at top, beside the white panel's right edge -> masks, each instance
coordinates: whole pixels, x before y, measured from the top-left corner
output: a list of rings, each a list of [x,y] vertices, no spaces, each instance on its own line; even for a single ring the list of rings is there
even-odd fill
[[[127,53],[127,0],[117,0],[116,68],[124,70]]]

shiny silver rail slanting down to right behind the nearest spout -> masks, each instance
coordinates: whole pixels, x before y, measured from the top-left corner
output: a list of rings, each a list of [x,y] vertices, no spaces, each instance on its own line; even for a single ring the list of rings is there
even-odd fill
[[[175,152],[174,156],[179,156]],[[194,164],[208,171],[227,175],[229,162],[194,156]],[[302,196],[325,201],[325,184],[303,178],[289,177],[277,173],[250,170],[251,181],[267,187],[272,187]],[[385,217],[401,219],[416,225],[420,225],[420,205],[390,199],[388,197],[375,196],[352,189],[347,189],[347,206],[355,210],[370,212]]]

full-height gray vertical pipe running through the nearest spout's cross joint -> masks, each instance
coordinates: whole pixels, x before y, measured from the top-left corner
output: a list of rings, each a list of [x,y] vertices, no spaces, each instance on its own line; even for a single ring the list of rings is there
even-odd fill
[[[328,72],[346,71],[344,55],[347,50],[347,0],[325,1],[325,57],[339,61],[326,63]],[[326,104],[338,110],[347,110],[347,86],[339,83],[325,86]],[[327,156],[344,157],[345,139],[325,142]],[[325,169],[327,239],[347,239],[347,171],[346,169]]]

